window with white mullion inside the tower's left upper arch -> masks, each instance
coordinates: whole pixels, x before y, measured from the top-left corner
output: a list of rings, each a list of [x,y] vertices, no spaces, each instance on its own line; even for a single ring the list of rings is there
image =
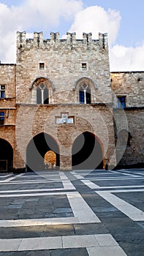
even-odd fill
[[[48,104],[49,95],[48,87],[45,86],[45,83],[39,83],[37,86],[37,104]]]

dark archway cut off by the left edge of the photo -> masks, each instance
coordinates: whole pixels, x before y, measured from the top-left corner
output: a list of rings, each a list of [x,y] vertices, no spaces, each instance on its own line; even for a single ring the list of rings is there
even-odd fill
[[[13,149],[7,140],[0,139],[0,171],[12,172]]]

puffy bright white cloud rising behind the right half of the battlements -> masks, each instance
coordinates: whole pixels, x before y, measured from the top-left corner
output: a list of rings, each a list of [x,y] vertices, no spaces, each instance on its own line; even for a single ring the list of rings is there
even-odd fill
[[[93,38],[97,38],[99,32],[107,32],[111,44],[117,37],[120,20],[119,12],[110,9],[105,11],[102,7],[92,6],[77,12],[69,31],[75,31],[79,38],[82,37],[83,32],[92,32]]]

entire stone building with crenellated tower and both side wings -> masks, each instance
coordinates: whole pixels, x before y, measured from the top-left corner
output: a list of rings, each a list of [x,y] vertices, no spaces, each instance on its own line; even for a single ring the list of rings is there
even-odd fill
[[[107,34],[17,32],[0,64],[0,171],[143,166],[144,72],[111,72]]]

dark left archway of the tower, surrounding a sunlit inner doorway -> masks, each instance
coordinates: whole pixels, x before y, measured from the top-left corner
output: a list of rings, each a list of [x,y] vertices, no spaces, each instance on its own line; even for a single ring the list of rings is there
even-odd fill
[[[56,167],[59,170],[59,148],[56,140],[42,132],[29,142],[26,150],[26,170],[45,170],[45,154],[52,150],[56,154]]]

